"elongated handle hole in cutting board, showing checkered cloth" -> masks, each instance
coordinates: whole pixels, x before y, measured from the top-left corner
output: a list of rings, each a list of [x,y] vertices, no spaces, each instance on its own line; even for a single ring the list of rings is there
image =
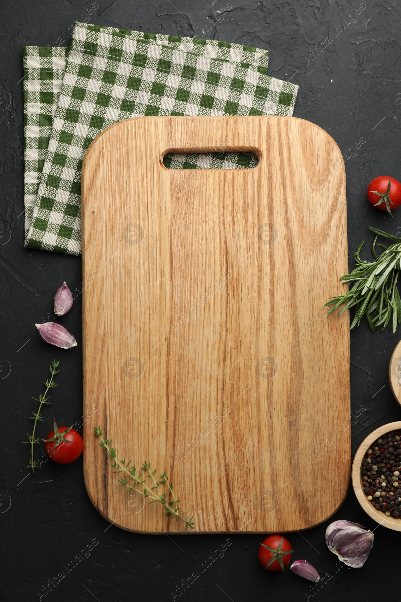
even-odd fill
[[[254,169],[259,158],[253,152],[167,152],[163,165],[167,169]]]

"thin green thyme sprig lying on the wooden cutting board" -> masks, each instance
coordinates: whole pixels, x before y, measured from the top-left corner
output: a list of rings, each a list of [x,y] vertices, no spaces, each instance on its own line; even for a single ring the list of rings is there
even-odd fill
[[[155,501],[159,501],[164,507],[165,510],[163,514],[168,514],[171,517],[175,517],[176,521],[182,520],[185,523],[185,529],[194,528],[194,524],[192,523],[192,518],[185,515],[183,510],[180,509],[179,503],[181,500],[177,500],[176,496],[173,493],[173,481],[168,482],[168,477],[166,472],[159,475],[155,478],[156,468],[153,472],[150,470],[150,464],[148,462],[144,462],[141,467],[141,471],[139,473],[136,472],[135,464],[131,465],[131,461],[126,462],[126,459],[116,460],[117,454],[115,453],[115,447],[111,447],[112,439],[103,439],[102,437],[102,429],[100,426],[93,427],[94,434],[96,437],[100,438],[100,447],[104,447],[109,456],[114,460],[113,464],[111,464],[112,468],[115,468],[115,473],[126,473],[129,475],[130,481],[134,482],[134,485],[129,485],[127,482],[127,477],[123,476],[121,479],[118,479],[118,482],[122,483],[127,487],[126,491],[133,491],[135,489],[136,492],[141,494],[143,497],[150,498],[149,504],[155,503]],[[148,474],[146,474],[148,473]],[[142,477],[145,477],[142,479]],[[150,479],[150,482],[147,480]],[[167,486],[164,491],[161,491],[160,486]],[[144,491],[137,489],[138,487],[142,487]],[[173,497],[172,500],[167,500],[167,495],[170,494]]]

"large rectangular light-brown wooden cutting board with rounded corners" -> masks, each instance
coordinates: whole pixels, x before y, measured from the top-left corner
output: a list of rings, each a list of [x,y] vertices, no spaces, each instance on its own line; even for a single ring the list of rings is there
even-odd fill
[[[254,169],[168,170],[166,152],[252,151]],[[124,493],[118,458],[167,471],[195,532],[289,532],[350,477],[341,152],[293,117],[142,117],[82,169],[84,471],[111,523],[184,525]]]

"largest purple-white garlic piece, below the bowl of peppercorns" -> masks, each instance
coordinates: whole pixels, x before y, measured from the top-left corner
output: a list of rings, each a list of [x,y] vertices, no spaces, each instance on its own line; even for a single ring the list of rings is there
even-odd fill
[[[337,554],[341,562],[352,568],[361,568],[372,550],[372,531],[358,523],[340,520],[329,524],[326,529],[326,544]]]

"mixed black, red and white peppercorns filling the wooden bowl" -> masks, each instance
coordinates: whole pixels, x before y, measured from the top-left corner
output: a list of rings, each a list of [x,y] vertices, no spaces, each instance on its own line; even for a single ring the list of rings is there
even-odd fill
[[[401,444],[397,430],[376,439],[362,461],[364,493],[376,510],[401,518]],[[400,479],[400,480],[399,480]]]

